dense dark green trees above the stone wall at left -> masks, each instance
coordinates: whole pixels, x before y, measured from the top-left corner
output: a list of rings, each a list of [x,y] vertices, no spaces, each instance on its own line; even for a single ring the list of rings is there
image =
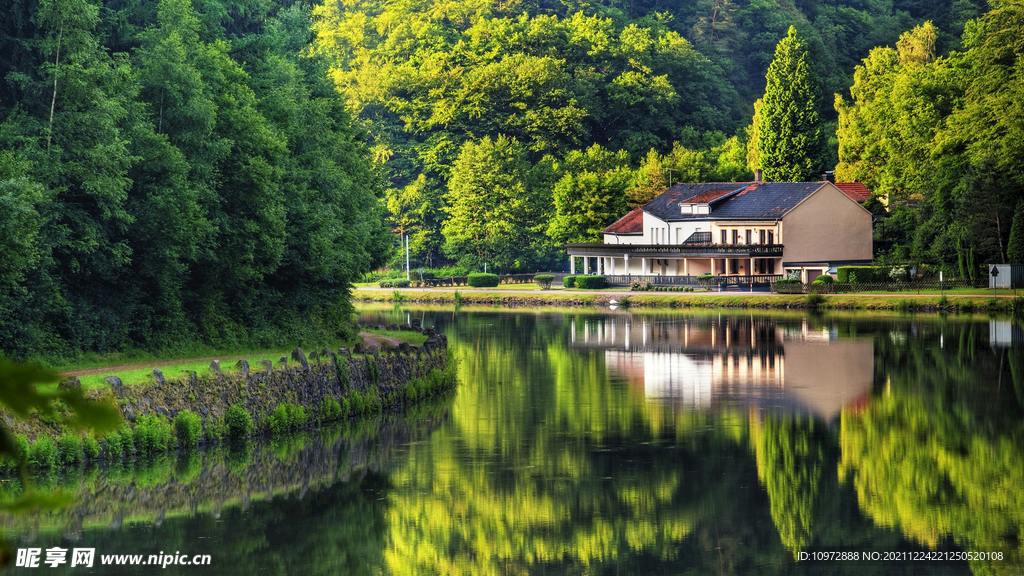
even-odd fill
[[[350,330],[390,240],[307,7],[16,0],[0,26],[0,351]]]

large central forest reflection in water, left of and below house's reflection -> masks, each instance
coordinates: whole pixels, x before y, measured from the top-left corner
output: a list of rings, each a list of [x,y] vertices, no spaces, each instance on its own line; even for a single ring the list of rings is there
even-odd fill
[[[534,315],[462,320],[452,425],[391,476],[389,573],[806,573],[800,546],[900,542],[821,422],[647,403]]]

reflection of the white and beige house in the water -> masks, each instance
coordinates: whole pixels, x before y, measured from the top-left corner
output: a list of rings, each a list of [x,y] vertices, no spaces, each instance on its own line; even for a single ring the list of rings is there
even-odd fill
[[[869,395],[874,346],[806,321],[715,317],[578,320],[571,345],[603,349],[609,369],[651,402],[767,403],[830,419]]]

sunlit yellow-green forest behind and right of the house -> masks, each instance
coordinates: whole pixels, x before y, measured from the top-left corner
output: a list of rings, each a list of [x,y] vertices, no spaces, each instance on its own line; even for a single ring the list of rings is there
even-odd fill
[[[821,141],[799,174],[766,177],[835,169],[863,181],[880,259],[974,278],[1014,257],[1022,11],[1010,0],[356,1],[316,7],[314,27],[418,265],[561,270],[563,243],[599,241],[672,182],[752,179],[759,138],[773,135],[759,133],[772,125],[758,112],[769,67],[784,56],[806,58],[805,121]]]

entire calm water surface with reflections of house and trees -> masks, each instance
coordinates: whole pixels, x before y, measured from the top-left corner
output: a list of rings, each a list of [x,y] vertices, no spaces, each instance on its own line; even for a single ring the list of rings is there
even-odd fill
[[[8,520],[11,545],[94,547],[96,566],[13,573],[1022,573],[1007,320],[360,318],[444,331],[458,389],[383,423],[44,479],[76,506]],[[211,566],[98,566],[158,552]]]

